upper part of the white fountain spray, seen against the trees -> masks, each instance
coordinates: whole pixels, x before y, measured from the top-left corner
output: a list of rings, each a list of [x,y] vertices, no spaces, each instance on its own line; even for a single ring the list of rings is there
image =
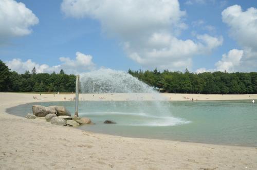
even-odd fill
[[[154,93],[153,87],[124,71],[99,69],[81,74],[82,93]]]

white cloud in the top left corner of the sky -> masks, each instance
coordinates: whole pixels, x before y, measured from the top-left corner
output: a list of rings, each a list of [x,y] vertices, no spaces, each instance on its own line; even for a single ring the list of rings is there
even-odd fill
[[[38,17],[23,3],[13,0],[0,1],[0,43],[10,37],[30,34],[30,27],[38,23]]]

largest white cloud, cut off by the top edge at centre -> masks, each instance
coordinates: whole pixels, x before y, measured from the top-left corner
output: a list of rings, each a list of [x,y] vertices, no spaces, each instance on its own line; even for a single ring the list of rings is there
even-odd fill
[[[61,9],[66,16],[98,20],[103,31],[118,37],[127,56],[144,68],[189,68],[194,55],[210,53],[223,42],[222,37],[207,34],[180,40],[187,25],[177,0],[63,0]]]

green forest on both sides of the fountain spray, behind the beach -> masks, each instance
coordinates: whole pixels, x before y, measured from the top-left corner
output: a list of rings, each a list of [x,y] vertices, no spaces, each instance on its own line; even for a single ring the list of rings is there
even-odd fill
[[[192,73],[157,69],[128,70],[140,81],[155,87],[161,92],[204,93],[204,94],[245,94],[257,93],[257,72],[204,72]],[[0,91],[14,92],[74,92],[76,76],[59,73],[36,73],[36,69],[19,74],[11,71],[0,60]]]

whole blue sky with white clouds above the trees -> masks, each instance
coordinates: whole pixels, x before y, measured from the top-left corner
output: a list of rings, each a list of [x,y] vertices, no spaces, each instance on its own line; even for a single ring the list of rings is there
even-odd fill
[[[12,71],[257,71],[257,1],[0,0]]]

